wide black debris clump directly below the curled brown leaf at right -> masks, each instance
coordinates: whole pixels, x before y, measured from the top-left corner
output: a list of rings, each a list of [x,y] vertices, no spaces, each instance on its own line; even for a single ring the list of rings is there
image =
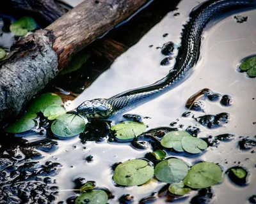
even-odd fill
[[[195,118],[197,122],[202,124],[202,126],[206,126],[207,128],[218,128],[222,126],[222,124],[228,122],[228,113],[219,113],[216,115],[203,115]]]

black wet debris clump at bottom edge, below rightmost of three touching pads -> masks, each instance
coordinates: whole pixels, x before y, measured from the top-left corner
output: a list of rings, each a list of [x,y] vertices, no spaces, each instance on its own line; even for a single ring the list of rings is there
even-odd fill
[[[190,201],[191,204],[209,204],[211,203],[212,197],[214,196],[214,193],[212,191],[212,188],[206,188],[206,189],[200,189],[198,191],[198,194],[196,194],[195,197],[193,197]]]

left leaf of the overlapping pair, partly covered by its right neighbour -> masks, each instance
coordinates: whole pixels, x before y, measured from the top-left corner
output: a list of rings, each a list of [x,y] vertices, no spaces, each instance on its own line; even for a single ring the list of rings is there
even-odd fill
[[[173,148],[177,152],[183,152],[181,140],[184,136],[191,136],[185,131],[172,131],[163,136],[161,145],[166,148]],[[191,136],[192,137],[192,136]]]

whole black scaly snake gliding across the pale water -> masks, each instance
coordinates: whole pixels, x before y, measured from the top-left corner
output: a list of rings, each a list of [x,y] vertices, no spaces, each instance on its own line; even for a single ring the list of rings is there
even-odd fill
[[[166,77],[152,85],[122,92],[109,99],[84,101],[76,108],[77,113],[88,118],[107,119],[117,112],[131,108],[141,101],[177,85],[195,66],[200,55],[202,33],[205,25],[221,13],[255,6],[255,0],[209,0],[191,11],[189,21],[182,31],[179,52],[173,69]]]

